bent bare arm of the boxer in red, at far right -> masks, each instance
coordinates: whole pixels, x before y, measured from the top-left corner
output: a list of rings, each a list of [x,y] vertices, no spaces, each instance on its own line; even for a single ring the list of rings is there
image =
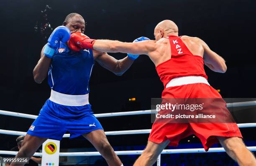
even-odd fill
[[[204,48],[205,65],[215,72],[225,73],[227,70],[225,60],[220,55],[212,51],[204,41],[202,41],[202,46]]]

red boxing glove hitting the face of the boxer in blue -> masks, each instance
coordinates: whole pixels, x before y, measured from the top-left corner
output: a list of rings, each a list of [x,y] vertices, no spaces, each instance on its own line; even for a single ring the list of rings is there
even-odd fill
[[[83,50],[88,48],[93,49],[93,44],[95,43],[95,41],[95,39],[90,39],[87,35],[84,35],[83,33],[75,32],[71,34],[68,43],[70,43],[70,49],[74,49],[74,51],[77,51],[77,48]]]

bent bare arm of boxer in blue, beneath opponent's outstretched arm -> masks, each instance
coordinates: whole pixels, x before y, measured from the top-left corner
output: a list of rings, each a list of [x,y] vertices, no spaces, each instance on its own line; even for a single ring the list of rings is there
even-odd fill
[[[93,50],[93,55],[95,57],[95,60],[103,68],[110,70],[111,72],[115,73],[115,75],[122,75],[133,64],[133,60],[128,58],[128,56],[123,59],[117,60],[112,56],[108,55],[108,53],[102,53],[97,50]]]

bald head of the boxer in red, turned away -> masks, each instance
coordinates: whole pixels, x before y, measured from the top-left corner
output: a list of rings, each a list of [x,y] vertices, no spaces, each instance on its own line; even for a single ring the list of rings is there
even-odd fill
[[[161,21],[156,25],[154,30],[154,35],[156,40],[159,40],[168,35],[176,35],[178,36],[178,27],[177,25],[171,20],[164,20]]]

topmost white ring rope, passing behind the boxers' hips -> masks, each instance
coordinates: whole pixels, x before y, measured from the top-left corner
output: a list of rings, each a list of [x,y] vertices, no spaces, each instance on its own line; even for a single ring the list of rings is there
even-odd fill
[[[241,107],[241,106],[256,106],[256,101],[246,101],[246,102],[237,102],[237,103],[227,103],[227,107]],[[94,114],[96,118],[102,117],[112,117],[112,116],[128,116],[128,115],[141,115],[141,114],[151,114],[155,110],[143,110],[143,111],[127,111],[127,112],[115,112],[115,113],[99,113]],[[26,113],[17,113],[10,111],[0,110],[0,114],[7,116],[18,116],[22,118],[36,119],[36,115],[29,115]]]

